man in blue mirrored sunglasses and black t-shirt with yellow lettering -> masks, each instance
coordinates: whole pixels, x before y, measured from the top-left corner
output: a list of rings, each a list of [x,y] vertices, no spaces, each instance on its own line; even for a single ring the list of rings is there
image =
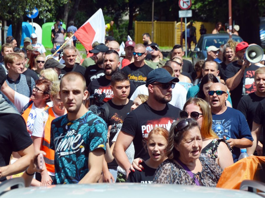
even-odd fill
[[[121,69],[136,87],[145,84],[147,75],[153,70],[144,63],[146,55],[145,46],[141,43],[136,44],[133,51],[134,62]]]

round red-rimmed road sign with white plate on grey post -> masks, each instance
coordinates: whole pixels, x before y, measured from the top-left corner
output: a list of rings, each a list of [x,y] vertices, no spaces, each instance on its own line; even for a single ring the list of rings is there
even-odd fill
[[[191,0],[179,0],[179,7],[182,9],[179,11],[179,18],[185,17],[185,55],[187,58],[187,17],[192,17],[192,11],[188,10],[191,7]]]

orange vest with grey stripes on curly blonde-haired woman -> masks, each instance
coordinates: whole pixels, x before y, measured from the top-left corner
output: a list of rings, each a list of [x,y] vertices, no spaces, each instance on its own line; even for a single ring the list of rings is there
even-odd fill
[[[48,120],[45,124],[44,128],[44,138],[41,150],[46,153],[46,156],[43,156],[44,162],[47,168],[47,171],[54,173],[54,150],[50,149],[50,142],[51,142],[51,122],[55,119],[55,115],[52,112],[52,108],[48,109]]]

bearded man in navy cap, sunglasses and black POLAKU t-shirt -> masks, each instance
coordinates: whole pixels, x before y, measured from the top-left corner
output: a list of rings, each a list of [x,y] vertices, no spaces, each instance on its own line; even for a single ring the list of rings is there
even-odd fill
[[[163,68],[149,72],[146,80],[148,100],[126,116],[114,145],[113,156],[118,165],[126,170],[127,176],[131,163],[125,150],[131,142],[134,143],[134,158],[146,160],[149,155],[142,142],[146,140],[151,129],[161,126],[169,130],[171,124],[178,119],[180,109],[168,104],[172,98],[174,82],[179,82],[179,79],[172,77]]]

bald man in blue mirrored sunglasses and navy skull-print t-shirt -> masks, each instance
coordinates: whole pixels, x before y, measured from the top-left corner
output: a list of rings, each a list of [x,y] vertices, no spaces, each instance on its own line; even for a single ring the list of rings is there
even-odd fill
[[[208,91],[213,116],[212,128],[219,138],[230,144],[234,162],[238,161],[240,148],[252,146],[253,138],[245,116],[238,110],[227,107],[228,93],[222,83],[214,83]]]

